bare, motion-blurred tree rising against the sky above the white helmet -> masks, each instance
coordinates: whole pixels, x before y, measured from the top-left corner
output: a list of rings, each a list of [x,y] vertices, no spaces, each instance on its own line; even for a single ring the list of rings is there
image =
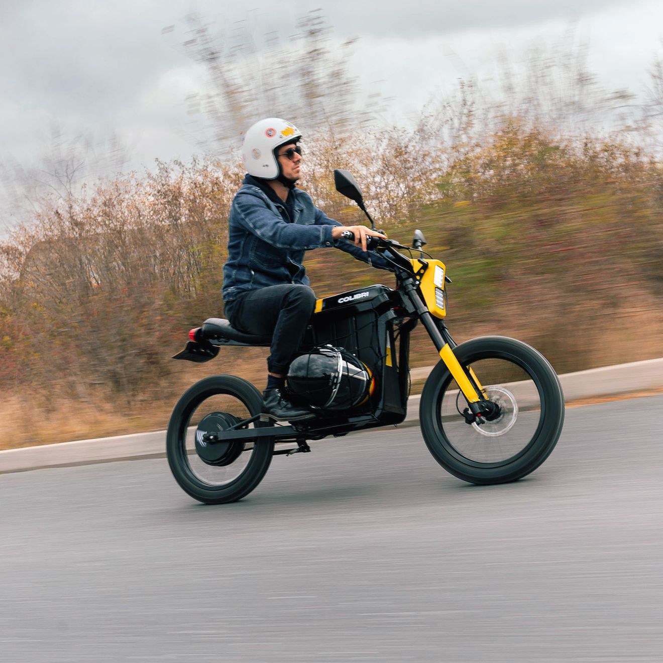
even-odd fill
[[[353,40],[334,44],[321,9],[304,15],[287,37],[257,36],[248,20],[223,36],[202,17],[188,21],[192,37],[184,47],[206,68],[209,84],[190,97],[190,107],[208,115],[217,144],[237,147],[243,131],[273,115],[336,141],[375,117],[375,97],[367,109],[349,69]]]

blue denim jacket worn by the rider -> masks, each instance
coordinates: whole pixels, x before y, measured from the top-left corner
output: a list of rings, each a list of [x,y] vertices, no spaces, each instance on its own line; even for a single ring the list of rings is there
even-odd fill
[[[310,283],[302,265],[304,252],[336,247],[373,267],[389,269],[375,251],[364,252],[345,239],[333,240],[331,228],[343,225],[318,210],[311,197],[292,189],[292,223],[284,220],[283,205],[272,202],[247,176],[237,192],[228,219],[228,260],[223,266],[223,300],[244,292],[284,283]]]

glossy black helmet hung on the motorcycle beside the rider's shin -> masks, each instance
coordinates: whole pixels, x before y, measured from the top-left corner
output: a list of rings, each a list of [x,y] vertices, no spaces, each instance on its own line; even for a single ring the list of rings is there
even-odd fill
[[[373,393],[375,379],[355,355],[333,345],[315,347],[294,359],[288,369],[288,389],[309,406],[346,410]]]

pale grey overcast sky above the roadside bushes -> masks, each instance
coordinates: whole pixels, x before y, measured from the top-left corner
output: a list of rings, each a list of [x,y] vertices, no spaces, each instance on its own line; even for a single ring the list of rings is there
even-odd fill
[[[201,146],[186,96],[204,72],[186,55],[184,17],[195,11],[218,34],[248,21],[257,40],[283,38],[322,8],[339,42],[359,37],[362,82],[392,97],[390,117],[414,115],[459,77],[489,77],[500,52],[562,38],[570,26],[589,46],[589,66],[610,88],[641,93],[663,54],[662,0],[290,0],[244,7],[229,0],[0,0],[0,164],[29,167],[65,136],[115,133],[127,166],[188,159]],[[245,24],[247,25],[247,24]],[[166,30],[164,30],[164,28]],[[296,119],[293,119],[296,121]],[[9,164],[9,166],[7,165]],[[0,200],[0,207],[7,203]],[[7,227],[0,219],[0,235]]]

